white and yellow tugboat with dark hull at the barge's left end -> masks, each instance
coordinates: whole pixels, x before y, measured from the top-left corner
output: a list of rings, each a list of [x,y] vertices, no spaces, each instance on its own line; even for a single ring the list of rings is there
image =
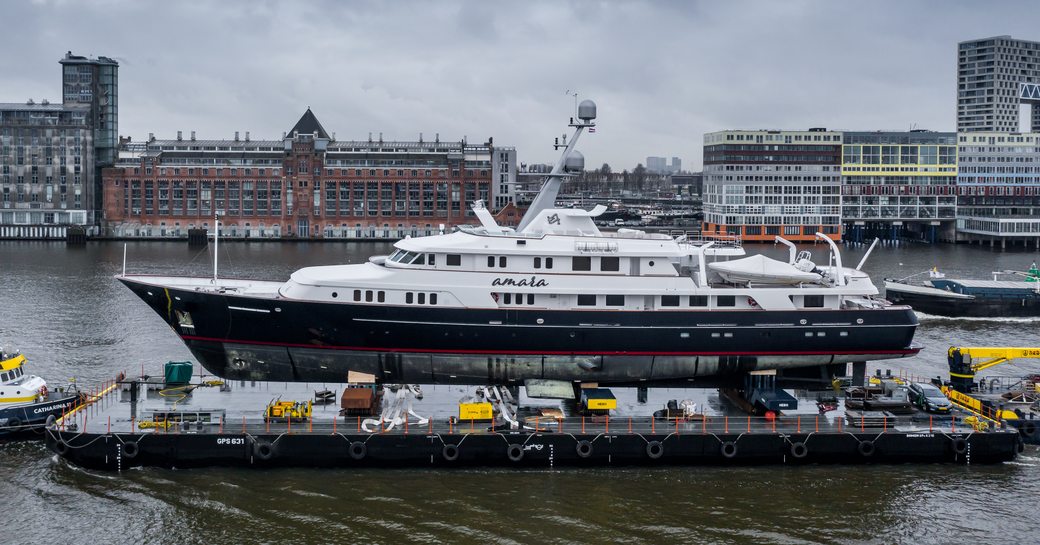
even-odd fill
[[[25,373],[25,356],[0,347],[0,437],[42,430],[79,398],[75,390],[49,391],[43,379]]]

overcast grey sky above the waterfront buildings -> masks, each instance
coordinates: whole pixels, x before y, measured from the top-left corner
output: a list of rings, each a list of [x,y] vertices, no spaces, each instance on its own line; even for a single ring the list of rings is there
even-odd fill
[[[957,43],[1040,41],[1040,2],[5,1],[0,101],[60,100],[66,51],[120,61],[120,133],[515,146],[552,162],[576,89],[587,166],[699,168],[733,128],[956,129]]]

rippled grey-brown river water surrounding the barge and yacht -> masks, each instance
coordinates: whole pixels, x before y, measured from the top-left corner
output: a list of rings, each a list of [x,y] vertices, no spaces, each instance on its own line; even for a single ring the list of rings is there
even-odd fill
[[[0,242],[0,343],[52,385],[191,359],[112,277],[123,244]],[[283,280],[305,265],[388,253],[373,242],[220,244],[226,277]],[[785,257],[784,249],[749,246]],[[846,264],[865,248],[844,252]],[[207,275],[209,249],[130,242],[130,272]],[[815,246],[820,260],[826,249]],[[985,278],[1040,254],[878,248],[877,284],[938,266]],[[945,375],[950,345],[1040,345],[1040,321],[921,317],[925,349],[884,367]],[[998,368],[1000,374],[1035,365]],[[0,444],[9,543],[1034,543],[1040,452],[1000,466],[563,470],[137,469],[84,471],[41,442]]]

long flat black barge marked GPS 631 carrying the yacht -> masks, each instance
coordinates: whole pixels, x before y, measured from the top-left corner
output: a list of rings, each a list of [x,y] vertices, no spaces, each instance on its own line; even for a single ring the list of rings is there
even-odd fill
[[[272,403],[312,400],[344,386],[154,380],[112,384],[48,427],[47,446],[89,468],[605,466],[661,464],[988,464],[1022,448],[1014,431],[977,431],[956,417],[809,410],[775,419],[725,414],[718,397],[681,417],[628,416],[649,409],[624,399],[616,414],[580,416],[529,407],[493,425],[447,415],[458,398],[415,404],[441,417],[396,423],[340,416],[338,404],[300,405],[298,418],[266,419]],[[134,391],[136,390],[136,393]],[[462,392],[458,387],[448,393]],[[439,397],[450,395],[439,393]],[[399,395],[387,391],[384,406]],[[328,397],[328,395],[324,395]],[[336,393],[339,398],[339,393]],[[522,404],[523,405],[523,404]],[[806,405],[806,404],[803,404]],[[708,409],[707,407],[710,407]],[[404,409],[412,406],[401,405]],[[135,414],[131,417],[131,412]],[[535,413],[527,414],[527,413]],[[296,414],[296,413],[294,413]],[[303,415],[307,415],[304,418]],[[548,414],[550,416],[544,416]],[[564,416],[561,416],[564,415]],[[498,415],[501,422],[501,416]],[[144,424],[144,425],[142,425]]]

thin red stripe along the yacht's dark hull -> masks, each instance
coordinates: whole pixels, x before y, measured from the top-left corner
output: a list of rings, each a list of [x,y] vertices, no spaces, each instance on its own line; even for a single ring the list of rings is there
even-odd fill
[[[499,355],[523,355],[523,356],[828,356],[835,354],[834,351],[773,351],[773,352],[675,352],[675,351],[472,351],[464,348],[390,348],[385,346],[337,346],[330,344],[306,344],[294,342],[270,342],[237,339],[218,339],[215,337],[199,337],[196,335],[181,335],[184,340],[196,340],[203,342],[228,342],[234,344],[261,344],[264,346],[286,346],[293,348],[320,348],[326,351],[356,351],[356,352],[400,352],[400,353],[421,353],[421,354],[499,354]],[[912,355],[920,352],[920,348],[898,348],[888,351],[850,351],[848,354],[903,354]],[[840,354],[840,353],[839,353]]]

